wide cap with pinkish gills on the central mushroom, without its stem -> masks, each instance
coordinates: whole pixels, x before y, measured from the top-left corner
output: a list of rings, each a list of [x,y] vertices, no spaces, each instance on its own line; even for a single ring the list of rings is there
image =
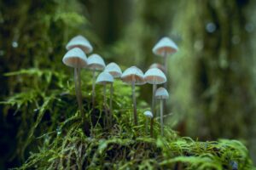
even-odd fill
[[[126,69],[123,72],[121,79],[123,82],[126,82],[127,84],[132,84],[134,82],[134,84],[136,85],[142,85],[145,83],[143,71],[141,71],[136,66],[131,66],[130,68]]]

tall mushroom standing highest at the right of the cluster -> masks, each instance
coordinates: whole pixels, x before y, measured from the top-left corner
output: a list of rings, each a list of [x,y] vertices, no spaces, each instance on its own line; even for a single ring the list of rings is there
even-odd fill
[[[165,73],[166,76],[168,72],[168,58],[167,55],[169,54],[175,54],[177,52],[178,48],[175,42],[172,41],[169,37],[162,37],[159,42],[157,42],[154,45],[154,48],[152,49],[153,53],[156,55],[159,55],[164,58],[164,64],[165,64]],[[165,88],[167,87],[165,83]]]

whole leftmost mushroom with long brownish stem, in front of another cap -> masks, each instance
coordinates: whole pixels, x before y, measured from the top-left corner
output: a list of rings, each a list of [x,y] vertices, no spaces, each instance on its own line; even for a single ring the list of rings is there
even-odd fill
[[[80,48],[72,48],[71,50],[67,51],[67,54],[64,55],[62,62],[65,65],[74,68],[75,91],[79,103],[79,110],[83,115],[82,121],[84,122],[80,69],[84,68],[87,65],[86,54],[84,54],[84,52]]]

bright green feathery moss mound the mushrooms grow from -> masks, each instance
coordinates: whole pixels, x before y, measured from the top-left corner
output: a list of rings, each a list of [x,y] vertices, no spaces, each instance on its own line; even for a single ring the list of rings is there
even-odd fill
[[[58,76],[53,76],[55,74]],[[33,78],[35,84],[44,77],[48,80],[47,86],[51,87],[44,90],[39,89],[40,86],[27,87],[29,93],[15,94],[3,102],[11,108],[16,107],[24,121],[18,133],[20,142],[16,154],[28,158],[17,169],[253,168],[247,148],[237,140],[200,142],[180,137],[169,127],[165,128],[165,137],[160,137],[159,123],[154,127],[154,139],[150,138],[145,133],[143,117],[148,106],[144,102],[139,103],[139,108],[144,109],[138,109],[139,125],[134,127],[131,87],[120,81],[114,83],[113,127],[106,129],[102,87],[96,87],[97,106],[92,111],[89,93],[91,74],[83,71],[82,75],[87,127],[82,125],[77,111],[73,80],[64,73],[53,71],[49,76],[48,71],[30,69],[7,74],[20,77],[20,80]]]

